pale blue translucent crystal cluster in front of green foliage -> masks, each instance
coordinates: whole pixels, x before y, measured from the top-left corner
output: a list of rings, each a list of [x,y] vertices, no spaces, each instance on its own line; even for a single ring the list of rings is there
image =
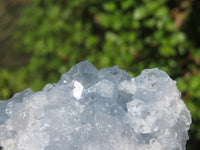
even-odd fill
[[[190,124],[176,82],[157,68],[132,78],[84,61],[0,102],[4,150],[184,150]]]

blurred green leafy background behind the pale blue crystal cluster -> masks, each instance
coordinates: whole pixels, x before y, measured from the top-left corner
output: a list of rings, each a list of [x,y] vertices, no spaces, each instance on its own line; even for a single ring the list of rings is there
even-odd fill
[[[41,90],[82,60],[166,71],[192,114],[187,149],[199,149],[199,0],[0,0],[0,99]]]

